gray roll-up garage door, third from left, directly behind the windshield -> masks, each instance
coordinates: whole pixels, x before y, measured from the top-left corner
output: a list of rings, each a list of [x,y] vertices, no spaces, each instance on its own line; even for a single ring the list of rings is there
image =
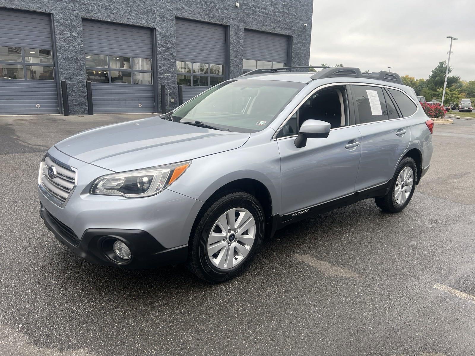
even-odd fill
[[[183,101],[224,81],[226,30],[224,26],[176,19],[177,83]]]

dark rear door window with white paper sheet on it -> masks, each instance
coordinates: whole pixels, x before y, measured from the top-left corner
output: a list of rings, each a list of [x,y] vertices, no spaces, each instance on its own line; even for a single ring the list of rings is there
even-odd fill
[[[352,85],[360,123],[388,120],[386,101],[378,86]]]

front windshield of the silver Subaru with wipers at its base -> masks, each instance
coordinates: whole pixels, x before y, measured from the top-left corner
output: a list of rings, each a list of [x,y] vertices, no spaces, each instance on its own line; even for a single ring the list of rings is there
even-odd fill
[[[172,119],[201,122],[225,131],[261,131],[304,85],[270,80],[224,82],[183,104]]]

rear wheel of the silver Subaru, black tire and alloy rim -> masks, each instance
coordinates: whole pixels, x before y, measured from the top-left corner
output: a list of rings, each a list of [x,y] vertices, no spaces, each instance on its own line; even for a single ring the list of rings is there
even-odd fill
[[[399,213],[414,194],[417,182],[417,166],[414,159],[404,157],[394,173],[392,188],[384,197],[376,197],[376,205],[387,212]]]

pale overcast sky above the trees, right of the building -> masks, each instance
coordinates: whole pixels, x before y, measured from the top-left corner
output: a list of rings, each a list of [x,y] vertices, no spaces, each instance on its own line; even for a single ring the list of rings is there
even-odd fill
[[[310,64],[343,63],[427,79],[447,61],[475,80],[475,0],[314,0]]]

